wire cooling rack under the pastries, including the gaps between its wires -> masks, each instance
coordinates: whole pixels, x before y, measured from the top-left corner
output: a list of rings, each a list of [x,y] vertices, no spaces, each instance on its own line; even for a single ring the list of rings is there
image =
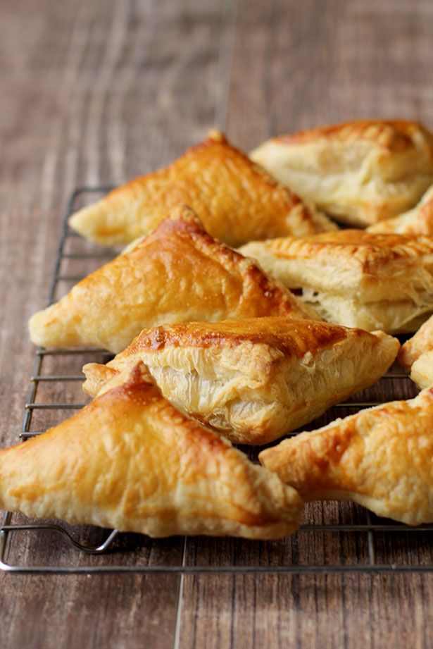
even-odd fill
[[[68,227],[68,217],[75,209],[108,190],[111,187],[80,187],[70,197],[49,290],[49,304],[69,290],[70,285],[119,252],[92,245]],[[39,347],[20,440],[41,434],[59,423],[58,416],[64,419],[65,412],[83,407],[83,361],[106,362],[110,358],[106,350]],[[332,407],[310,428],[389,400],[389,393],[394,398],[410,398],[416,392],[408,376],[394,366],[372,388]],[[256,459],[257,450],[243,450],[251,459]],[[433,571],[433,525],[395,524],[348,502],[308,503],[306,519],[307,523],[298,533],[278,541],[207,537],[151,539],[116,530],[70,526],[63,521],[33,521],[21,514],[4,512],[0,526],[0,568],[15,573],[180,575]],[[38,564],[41,556],[44,562]],[[36,562],[32,557],[36,557]]]

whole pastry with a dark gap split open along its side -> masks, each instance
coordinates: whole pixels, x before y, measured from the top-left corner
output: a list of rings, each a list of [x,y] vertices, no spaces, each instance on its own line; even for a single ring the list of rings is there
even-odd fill
[[[433,238],[339,230],[239,249],[323,319],[410,333],[433,312]]]

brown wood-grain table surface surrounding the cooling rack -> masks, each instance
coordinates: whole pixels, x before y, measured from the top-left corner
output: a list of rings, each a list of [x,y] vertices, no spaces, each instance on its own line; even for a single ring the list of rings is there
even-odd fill
[[[2,445],[23,418],[33,362],[26,322],[46,302],[74,187],[151,171],[213,126],[245,149],[358,117],[433,127],[429,0],[3,0],[0,16]],[[56,389],[65,398],[72,390]],[[365,517],[350,506],[326,512],[311,515]],[[184,560],[265,564],[291,548],[320,561],[349,556],[353,543],[352,553],[365,551],[351,536],[323,536],[309,550],[302,540],[198,539]],[[427,535],[417,552],[405,538],[377,540],[377,553],[431,562]],[[130,564],[182,560],[179,539],[132,545]],[[15,560],[70,560],[70,552],[39,536],[18,544]],[[432,607],[432,574],[3,574],[0,646],[427,648]]]

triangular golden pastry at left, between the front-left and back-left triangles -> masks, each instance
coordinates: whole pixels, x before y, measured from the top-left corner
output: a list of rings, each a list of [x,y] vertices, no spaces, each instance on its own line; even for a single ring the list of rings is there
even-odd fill
[[[43,347],[120,352],[144,327],[226,318],[313,316],[256,264],[208,235],[187,207],[30,319]]]

